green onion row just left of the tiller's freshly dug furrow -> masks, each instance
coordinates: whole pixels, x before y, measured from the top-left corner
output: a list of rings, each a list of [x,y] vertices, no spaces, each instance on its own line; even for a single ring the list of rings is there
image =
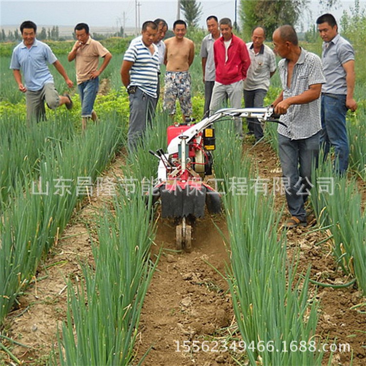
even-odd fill
[[[77,291],[68,285],[67,321],[62,324],[59,352],[54,352],[51,365],[122,366],[134,358],[142,303],[157,264],[149,262],[154,236],[152,196],[149,201],[142,196],[141,182],[155,176],[157,160],[148,150],[166,147],[169,122],[168,116],[160,115],[122,167],[124,177],[136,179],[135,193],[119,190],[113,214],[104,210],[98,220],[95,270],[85,264],[85,284]]]

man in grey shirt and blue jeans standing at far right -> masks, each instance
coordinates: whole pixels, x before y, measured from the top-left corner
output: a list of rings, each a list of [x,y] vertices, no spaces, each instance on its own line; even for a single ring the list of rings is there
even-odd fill
[[[355,85],[355,55],[351,44],[338,34],[338,26],[331,14],[320,16],[316,23],[323,39],[322,133],[320,142],[325,157],[330,145],[337,156],[337,171],[344,174],[348,167],[347,109],[357,109],[353,99]]]

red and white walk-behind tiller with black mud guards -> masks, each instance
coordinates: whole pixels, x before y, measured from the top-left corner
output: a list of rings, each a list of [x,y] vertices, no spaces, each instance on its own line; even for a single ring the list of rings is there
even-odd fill
[[[221,196],[203,181],[212,174],[215,150],[213,123],[228,118],[256,118],[261,122],[279,122],[273,108],[224,108],[201,122],[175,123],[167,128],[167,152],[149,151],[159,159],[158,183],[153,188],[154,201],[160,197],[162,217],[175,218],[176,247],[190,251],[192,222],[203,217],[204,204],[209,213],[221,211]],[[280,122],[279,122],[280,123]]]

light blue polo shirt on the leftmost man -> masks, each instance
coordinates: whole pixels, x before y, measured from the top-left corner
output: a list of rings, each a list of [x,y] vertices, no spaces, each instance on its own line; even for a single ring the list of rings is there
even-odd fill
[[[30,48],[23,41],[14,48],[10,68],[21,71],[24,86],[28,90],[38,91],[44,84],[54,82],[48,64],[56,61],[48,44],[35,39]]]

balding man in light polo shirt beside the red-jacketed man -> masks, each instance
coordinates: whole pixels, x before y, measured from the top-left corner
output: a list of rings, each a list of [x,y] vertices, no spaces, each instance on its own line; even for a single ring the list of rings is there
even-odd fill
[[[244,80],[244,102],[246,108],[263,107],[264,97],[269,88],[269,79],[276,71],[276,58],[273,51],[266,46],[265,30],[256,27],[252,31],[252,41],[246,44],[250,56],[250,66]],[[263,138],[263,128],[255,119],[247,119],[249,134],[255,136],[256,142]]]

